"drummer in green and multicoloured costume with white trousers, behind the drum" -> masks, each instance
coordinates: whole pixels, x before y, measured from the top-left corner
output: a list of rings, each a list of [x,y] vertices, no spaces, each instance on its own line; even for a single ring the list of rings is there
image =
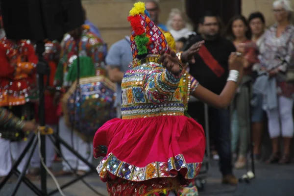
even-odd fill
[[[105,74],[105,69],[103,68],[103,42],[95,34],[90,32],[89,29],[90,28],[88,25],[81,25],[66,34],[61,43],[61,54],[57,71],[55,73],[54,85],[56,88],[63,89],[64,93],[70,91],[69,89],[72,88],[73,83],[77,78],[77,55],[79,55],[80,59],[81,78]],[[94,89],[92,89],[92,91],[94,91]],[[64,94],[63,96],[65,95],[67,94]],[[54,102],[58,102],[60,96],[60,93],[55,94]],[[76,112],[74,109],[71,110],[74,108],[74,101],[75,100],[69,104],[62,104],[63,110],[61,110],[61,102],[59,102],[59,114],[61,115],[59,118],[59,134],[60,137],[62,137],[62,139],[65,140],[69,145],[73,144],[74,149],[81,156],[91,162],[93,158],[91,155],[92,141],[88,142],[88,135],[85,137],[85,134],[81,132],[82,130],[74,130],[73,137],[71,137],[72,128],[71,125],[69,125],[71,122],[69,122],[68,119],[70,113]],[[71,110],[71,112],[65,112],[64,105],[66,105],[66,109],[68,111]],[[88,114],[81,112],[81,114],[78,115]],[[78,160],[78,158],[63,145],[61,146],[61,151],[64,158],[70,163],[71,167],[69,167],[66,162],[62,162],[63,171],[57,173],[57,175],[72,174],[73,171],[71,168],[77,170],[80,174],[90,170],[90,168],[84,162]]]

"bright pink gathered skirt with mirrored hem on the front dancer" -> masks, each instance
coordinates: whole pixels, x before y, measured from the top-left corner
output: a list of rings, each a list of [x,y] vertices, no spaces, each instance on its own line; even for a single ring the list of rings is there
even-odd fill
[[[97,167],[102,181],[191,180],[200,171],[204,152],[202,126],[185,116],[113,119],[94,137],[94,156],[105,156]]]

